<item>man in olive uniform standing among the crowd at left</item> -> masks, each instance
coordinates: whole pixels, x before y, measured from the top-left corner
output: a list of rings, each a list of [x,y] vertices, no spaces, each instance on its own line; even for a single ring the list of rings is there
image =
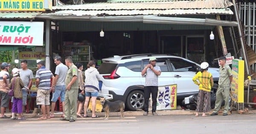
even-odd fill
[[[69,120],[69,122],[74,122],[76,121],[76,101],[79,88],[78,69],[73,64],[72,57],[70,56],[65,58],[65,64],[68,67],[65,80],[67,88],[65,94],[65,116],[60,120]]]

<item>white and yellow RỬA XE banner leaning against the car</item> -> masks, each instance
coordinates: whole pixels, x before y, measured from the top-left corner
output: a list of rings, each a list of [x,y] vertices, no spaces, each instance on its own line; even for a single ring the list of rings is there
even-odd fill
[[[177,84],[159,86],[157,94],[157,110],[176,109]]]

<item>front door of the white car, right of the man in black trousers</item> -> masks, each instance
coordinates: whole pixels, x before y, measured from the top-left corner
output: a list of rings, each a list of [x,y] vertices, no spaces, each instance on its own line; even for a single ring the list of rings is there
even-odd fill
[[[174,83],[177,84],[177,94],[179,96],[189,96],[198,92],[198,86],[193,83],[192,78],[199,67],[183,58],[169,58],[169,62]]]

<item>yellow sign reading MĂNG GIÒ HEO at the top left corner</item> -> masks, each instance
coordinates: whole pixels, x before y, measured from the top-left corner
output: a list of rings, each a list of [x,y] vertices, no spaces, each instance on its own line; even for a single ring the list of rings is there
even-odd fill
[[[0,11],[52,10],[51,0],[0,0]]]

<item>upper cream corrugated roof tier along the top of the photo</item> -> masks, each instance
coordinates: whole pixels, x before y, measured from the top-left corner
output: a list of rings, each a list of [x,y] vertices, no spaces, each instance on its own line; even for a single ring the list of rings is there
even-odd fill
[[[146,9],[225,9],[233,3],[224,0],[192,0],[144,3],[85,3],[83,5],[54,6],[54,10],[146,10]]]

